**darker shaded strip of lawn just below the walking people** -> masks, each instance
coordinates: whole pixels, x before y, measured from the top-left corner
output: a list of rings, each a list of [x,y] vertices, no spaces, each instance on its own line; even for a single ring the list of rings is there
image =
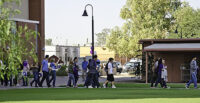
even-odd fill
[[[106,100],[146,98],[200,98],[195,89],[85,89],[85,88],[39,88],[0,90],[0,102],[49,101],[49,100]]]

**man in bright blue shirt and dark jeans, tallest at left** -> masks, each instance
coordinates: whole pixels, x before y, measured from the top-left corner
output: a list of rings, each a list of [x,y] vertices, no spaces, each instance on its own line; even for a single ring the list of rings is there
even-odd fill
[[[46,83],[48,87],[51,87],[49,84],[49,68],[48,68],[48,59],[49,59],[49,55],[45,56],[45,59],[42,61],[42,66],[41,66],[41,70],[43,72],[43,77],[41,82],[39,83],[39,86],[42,87],[42,84],[44,82],[44,80],[46,79]]]

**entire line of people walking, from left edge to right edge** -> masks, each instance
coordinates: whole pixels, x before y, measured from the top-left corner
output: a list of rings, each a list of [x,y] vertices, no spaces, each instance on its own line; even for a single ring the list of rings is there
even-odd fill
[[[197,70],[199,67],[197,65],[196,59],[196,57],[193,57],[190,62],[190,81],[185,85],[186,88],[189,88],[191,83],[194,83],[194,87],[197,88]],[[21,64],[22,72],[19,72],[19,75],[22,75],[21,78],[23,81],[23,86],[28,86],[28,76],[30,75],[29,70],[32,70],[34,75],[34,79],[30,82],[30,86],[35,83],[35,87],[42,87],[44,80],[46,80],[48,87],[56,86],[56,71],[59,69],[58,62],[60,59],[57,62],[55,62],[55,59],[51,59],[50,65],[48,65],[48,60],[49,56],[46,55],[41,65],[38,65],[38,63],[34,62],[30,67],[27,60]],[[113,60],[113,58],[109,58],[108,63],[104,67],[104,71],[107,74],[107,80],[103,83],[103,88],[107,88],[109,82],[111,82],[112,88],[116,88],[113,75]],[[0,63],[2,64],[2,61],[0,61]],[[67,81],[67,87],[78,87],[77,82],[79,80],[79,71],[82,71],[82,80],[84,81],[84,86],[86,88],[101,88],[99,83],[100,67],[100,60],[97,59],[97,55],[94,55],[93,58],[89,61],[84,58],[84,61],[82,62],[82,70],[78,65],[77,57],[75,57],[73,60],[70,60],[69,65],[66,68],[69,77]],[[51,79],[49,79],[50,76]],[[1,85],[16,85],[19,82],[18,80],[18,76],[13,77],[11,75],[10,78],[7,78],[7,75],[4,75],[4,79],[1,78]],[[168,74],[165,60],[158,58],[155,60],[154,68],[152,69],[151,88],[156,88],[159,83],[162,88],[168,88],[167,81]]]

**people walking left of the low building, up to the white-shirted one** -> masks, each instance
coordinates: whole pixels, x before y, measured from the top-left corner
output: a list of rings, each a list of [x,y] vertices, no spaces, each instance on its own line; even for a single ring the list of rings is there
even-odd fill
[[[80,69],[78,65],[78,58],[75,57],[73,60],[69,61],[69,65],[66,68],[66,72],[68,73],[68,81],[67,81],[67,87],[74,87],[77,88],[77,82],[79,80],[79,71],[82,71],[82,80],[84,82],[84,86],[87,88],[101,88],[101,85],[99,83],[99,77],[100,77],[100,60],[97,59],[97,55],[94,55],[92,59],[89,61],[84,58],[84,61],[82,62],[82,70]],[[60,60],[60,59],[59,59]],[[43,87],[43,82],[46,80],[46,85],[48,87],[55,87],[56,86],[56,71],[59,70],[58,62],[55,62],[55,59],[51,59],[49,62],[49,56],[46,55],[43,59],[41,65],[39,63],[33,62],[33,65],[29,66],[29,63],[27,60],[25,60],[22,63],[21,68],[19,69],[19,74],[21,75],[21,79],[23,81],[23,86],[29,85],[29,76],[30,71],[33,73],[33,80],[30,81],[30,86],[35,87]],[[103,84],[104,88],[107,88],[108,82],[111,82],[112,88],[116,88],[114,85],[114,68],[113,68],[113,58],[110,58],[108,63],[105,66],[105,72],[107,74],[107,80]],[[49,65],[50,63],[50,65]],[[20,72],[20,70],[22,72]],[[51,77],[51,78],[50,78]],[[20,76],[17,78],[17,82],[19,84],[20,82]],[[1,84],[3,85],[4,81],[5,83],[9,82],[11,79],[1,79]],[[52,84],[51,84],[52,83]],[[7,86],[7,84],[5,85]]]

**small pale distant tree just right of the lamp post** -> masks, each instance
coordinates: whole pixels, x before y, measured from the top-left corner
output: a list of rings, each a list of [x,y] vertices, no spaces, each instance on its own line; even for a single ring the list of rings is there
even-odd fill
[[[110,29],[103,29],[101,33],[97,33],[97,45],[105,46],[106,45],[106,37],[109,35]]]

